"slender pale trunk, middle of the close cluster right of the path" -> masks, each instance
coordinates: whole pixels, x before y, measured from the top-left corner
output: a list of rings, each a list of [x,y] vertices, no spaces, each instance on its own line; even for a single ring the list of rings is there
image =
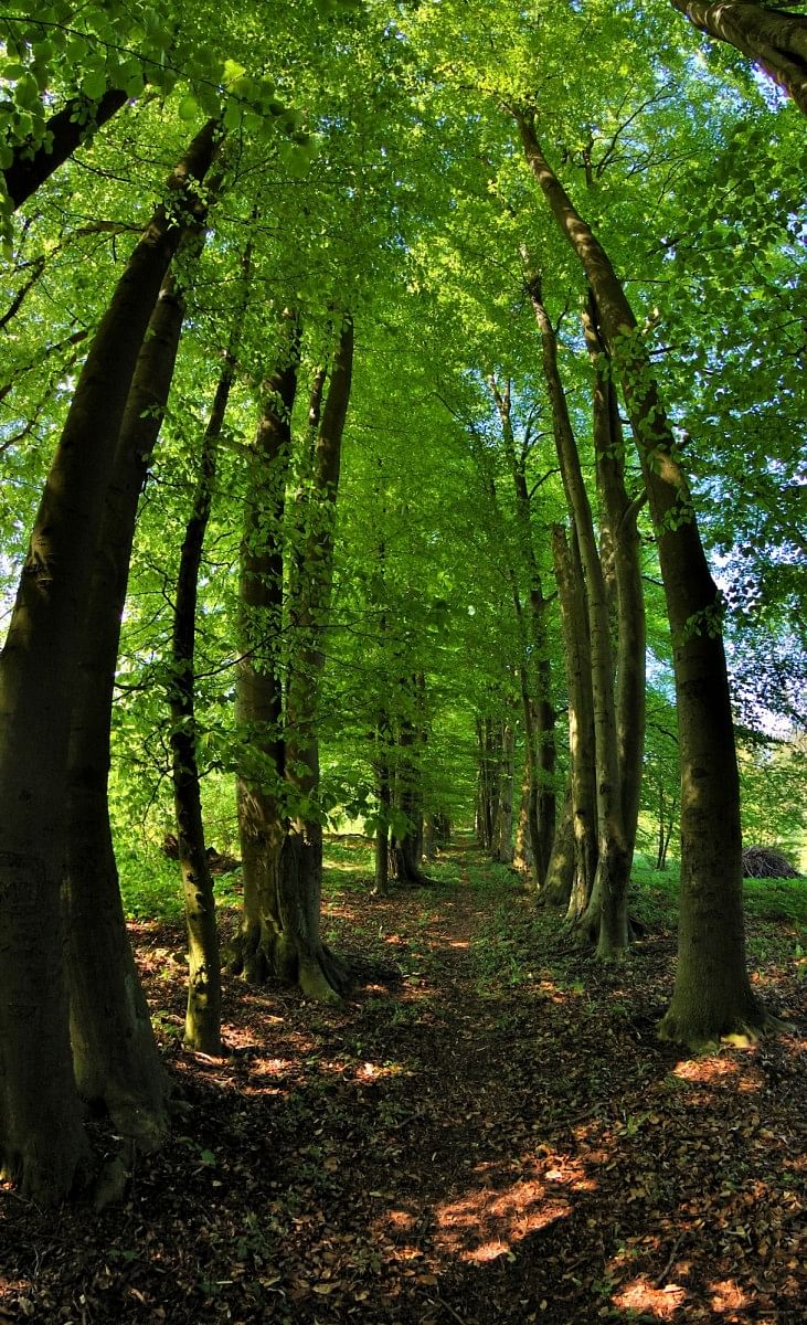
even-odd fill
[[[598,957],[614,959],[619,958],[628,946],[627,890],[631,877],[631,851],[624,827],[621,770],[616,743],[608,600],[594,533],[591,505],[558,370],[555,331],[543,306],[541,282],[537,276],[530,274],[529,290],[541,333],[543,375],[553,411],[558,464],[580,549],[588,608],[596,761],[598,860],[595,888],[582,918],[582,926],[584,930],[596,930]]]

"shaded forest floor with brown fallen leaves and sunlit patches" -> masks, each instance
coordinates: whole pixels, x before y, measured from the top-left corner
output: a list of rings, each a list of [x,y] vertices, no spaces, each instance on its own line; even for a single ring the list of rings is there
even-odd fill
[[[101,1214],[0,1191],[0,1321],[804,1320],[804,1037],[660,1044],[669,916],[602,970],[474,849],[384,900],[359,839],[333,856],[329,943],[387,978],[343,1008],[229,979],[225,1059],[180,1045],[182,928],[133,926],[187,1112]],[[798,930],[750,939],[804,1027]]]

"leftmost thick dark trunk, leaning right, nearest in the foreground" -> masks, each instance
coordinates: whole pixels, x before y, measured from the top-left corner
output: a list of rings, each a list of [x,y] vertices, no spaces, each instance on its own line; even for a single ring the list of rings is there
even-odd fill
[[[213,142],[211,123],[168,182],[179,205],[155,213],[95,333],[0,656],[0,1169],[41,1203],[69,1194],[85,1154],[60,916],[83,608],[136,358]]]

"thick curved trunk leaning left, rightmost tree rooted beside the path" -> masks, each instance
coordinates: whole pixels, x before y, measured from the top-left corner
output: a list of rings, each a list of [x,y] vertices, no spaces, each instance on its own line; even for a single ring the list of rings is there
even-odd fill
[[[660,1034],[689,1044],[762,1031],[745,959],[739,778],[721,635],[721,603],[686,477],[636,318],[611,261],[518,119],[529,166],[578,254],[621,380],[643,465],[673,639],[681,761],[681,913],[672,1004]]]

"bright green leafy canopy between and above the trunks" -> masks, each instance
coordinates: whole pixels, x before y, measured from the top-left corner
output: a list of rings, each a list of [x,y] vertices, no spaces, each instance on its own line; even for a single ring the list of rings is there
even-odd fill
[[[205,117],[220,117],[224,132],[208,242],[188,292],[172,396],[143,493],[125,620],[114,788],[126,871],[138,833],[154,852],[170,827],[167,599],[248,238],[250,298],[200,587],[200,757],[211,840],[220,849],[233,840],[241,504],[256,400],[277,348],[276,313],[285,306],[298,309],[303,323],[305,384],[327,352],[333,309],[350,309],[356,326],[321,733],[322,814],[372,824],[379,713],[411,716],[402,678],[423,674],[425,804],[468,820],[474,719],[514,712],[523,661],[513,612],[513,576],[526,591],[521,534],[490,375],[511,383],[518,436],[530,429],[531,535],[547,578],[547,530],[565,518],[525,297],[525,246],[545,272],[594,496],[591,374],[579,327],[584,290],[537,203],[514,129],[517,106],[537,111],[553,164],[629,282],[725,582],[742,721],[765,727],[780,713],[778,734],[790,741],[802,674],[795,623],[804,619],[803,122],[791,106],[769,105],[725,54],[697,54],[697,38],[664,4],[54,0],[7,7],[0,36],[0,164],[21,146],[36,151],[46,119],[70,98],[86,98],[90,118],[89,102],[106,89],[122,87],[130,98],[8,231],[0,309],[7,592],[76,366],[166,168]],[[302,396],[298,439],[306,428]],[[290,497],[302,469],[296,453]],[[628,481],[637,488],[635,465]],[[674,815],[674,713],[655,546],[641,521],[657,686],[643,815],[651,856],[661,796]],[[554,607],[547,620],[563,746]],[[521,742],[519,731],[517,762]],[[761,762],[770,759],[791,788],[788,750],[749,754],[751,836],[774,824],[758,790],[766,784]],[[559,782],[563,774],[562,753]],[[794,837],[795,799],[777,798],[778,840]]]

